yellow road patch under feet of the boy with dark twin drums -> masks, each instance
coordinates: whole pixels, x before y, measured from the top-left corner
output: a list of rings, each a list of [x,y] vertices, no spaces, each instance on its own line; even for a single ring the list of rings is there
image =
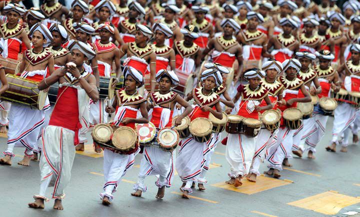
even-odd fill
[[[234,187],[231,184],[226,184],[225,182],[219,182],[216,184],[211,184],[211,186],[221,187],[226,190],[232,190],[245,194],[253,194],[257,192],[261,192],[264,190],[268,190],[274,187],[279,187],[283,185],[290,184],[288,181],[270,178],[263,175],[259,175],[256,177],[256,182],[250,182],[246,178],[241,179],[242,185],[239,187]]]

